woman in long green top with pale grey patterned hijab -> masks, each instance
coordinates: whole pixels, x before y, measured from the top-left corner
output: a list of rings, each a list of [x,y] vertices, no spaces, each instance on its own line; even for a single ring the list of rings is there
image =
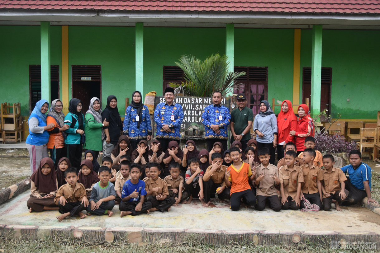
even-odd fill
[[[101,122],[101,103],[99,98],[91,98],[84,120],[86,122],[84,126],[86,141],[83,148],[93,150],[95,152],[94,159],[97,159],[99,152],[103,148],[103,139],[105,138],[103,126],[109,125],[108,121],[106,121],[107,119]]]

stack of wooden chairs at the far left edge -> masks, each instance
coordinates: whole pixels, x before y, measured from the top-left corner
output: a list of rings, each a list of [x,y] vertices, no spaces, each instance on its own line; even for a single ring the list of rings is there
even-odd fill
[[[1,141],[6,142],[21,142],[22,132],[24,128],[22,126],[24,117],[21,116],[20,103],[1,104]]]

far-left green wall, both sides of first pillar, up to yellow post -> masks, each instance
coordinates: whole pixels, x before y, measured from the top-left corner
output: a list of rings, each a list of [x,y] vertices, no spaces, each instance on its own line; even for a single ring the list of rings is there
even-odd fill
[[[40,26],[0,26],[0,36],[0,102],[20,103],[29,115],[29,65],[41,64]],[[51,64],[61,65],[59,26],[51,27]]]

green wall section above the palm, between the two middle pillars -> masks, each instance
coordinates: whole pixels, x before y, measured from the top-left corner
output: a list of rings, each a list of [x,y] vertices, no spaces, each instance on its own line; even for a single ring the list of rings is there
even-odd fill
[[[173,66],[181,55],[201,60],[225,54],[225,28],[144,27],[144,92],[162,94],[163,66]],[[143,96],[144,96],[143,95]]]

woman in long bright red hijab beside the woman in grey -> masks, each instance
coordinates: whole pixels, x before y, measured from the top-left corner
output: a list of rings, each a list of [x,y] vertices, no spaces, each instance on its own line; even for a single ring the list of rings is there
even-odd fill
[[[297,128],[297,117],[293,112],[293,107],[289,100],[284,100],[281,104],[281,111],[277,117],[277,160],[280,161],[284,157],[283,145],[288,142],[294,142],[294,136],[290,136],[290,131]]]

